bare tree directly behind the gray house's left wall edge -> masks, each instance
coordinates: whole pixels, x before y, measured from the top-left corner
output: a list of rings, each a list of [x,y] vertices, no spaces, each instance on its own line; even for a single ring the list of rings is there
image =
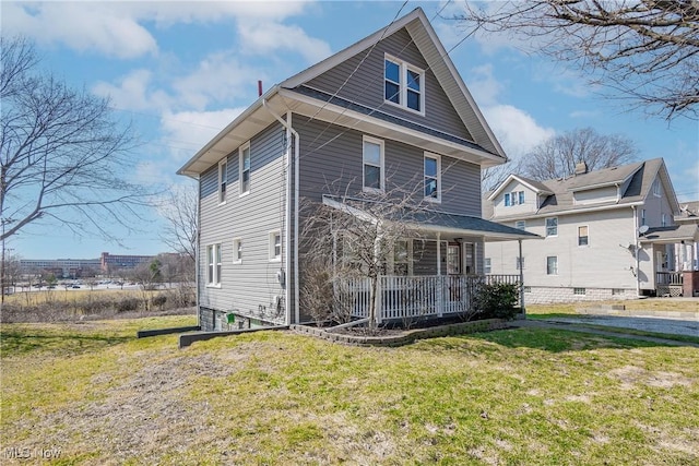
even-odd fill
[[[165,218],[161,239],[174,251],[197,258],[197,225],[199,193],[196,184],[177,184],[161,201],[158,211]]]

